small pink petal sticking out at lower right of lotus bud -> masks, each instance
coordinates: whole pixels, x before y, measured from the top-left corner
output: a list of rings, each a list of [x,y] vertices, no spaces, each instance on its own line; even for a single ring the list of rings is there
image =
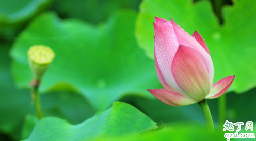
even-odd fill
[[[212,86],[210,93],[209,93],[209,95],[207,95],[206,98],[214,99],[214,98],[220,97],[222,94],[224,94],[228,90],[228,88],[232,84],[234,78],[235,78],[235,75],[228,76],[228,77],[225,77],[225,78],[219,80],[218,82],[216,82]]]

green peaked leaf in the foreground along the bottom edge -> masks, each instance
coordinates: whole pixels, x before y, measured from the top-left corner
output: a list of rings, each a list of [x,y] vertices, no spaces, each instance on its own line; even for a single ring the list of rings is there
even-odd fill
[[[71,125],[66,120],[56,117],[43,118],[26,140],[94,140],[125,135],[136,136],[154,128],[157,128],[156,123],[135,107],[114,102],[108,110],[99,112],[77,125]]]

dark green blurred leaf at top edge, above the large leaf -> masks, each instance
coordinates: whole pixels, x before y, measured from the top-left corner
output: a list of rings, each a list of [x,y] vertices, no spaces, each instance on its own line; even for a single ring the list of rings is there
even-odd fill
[[[62,18],[79,18],[90,23],[106,21],[118,9],[138,10],[141,0],[58,0],[54,9]]]

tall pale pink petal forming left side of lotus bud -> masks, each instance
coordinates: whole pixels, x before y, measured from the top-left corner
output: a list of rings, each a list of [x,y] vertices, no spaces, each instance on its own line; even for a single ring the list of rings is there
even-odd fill
[[[158,68],[161,70],[163,79],[167,85],[181,93],[185,93],[179,88],[171,72],[172,60],[179,47],[173,26],[170,22],[161,18],[156,18],[155,21],[155,60],[157,61]],[[169,89],[166,85],[164,87]]]

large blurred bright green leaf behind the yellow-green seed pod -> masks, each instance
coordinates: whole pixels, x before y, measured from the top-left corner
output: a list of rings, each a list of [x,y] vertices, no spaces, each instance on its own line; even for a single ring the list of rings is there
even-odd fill
[[[154,98],[147,88],[161,88],[154,61],[137,47],[136,13],[120,11],[96,27],[75,19],[60,20],[45,13],[31,22],[15,41],[12,72],[19,87],[32,79],[27,50],[46,45],[56,57],[42,78],[41,92],[72,90],[93,107],[105,110],[124,95]]]

